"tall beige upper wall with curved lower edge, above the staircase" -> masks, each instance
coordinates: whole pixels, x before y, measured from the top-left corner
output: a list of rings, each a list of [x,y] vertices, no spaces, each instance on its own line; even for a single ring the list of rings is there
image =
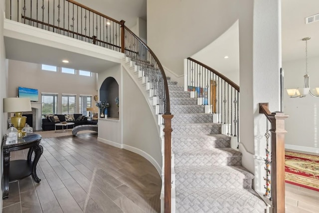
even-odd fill
[[[163,66],[181,75],[183,59],[217,39],[239,15],[249,15],[249,5],[252,0],[148,0],[148,44]]]

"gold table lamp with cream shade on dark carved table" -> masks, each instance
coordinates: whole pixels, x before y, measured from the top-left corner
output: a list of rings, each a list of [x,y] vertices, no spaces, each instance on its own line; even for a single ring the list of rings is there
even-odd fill
[[[3,112],[14,112],[15,116],[11,117],[11,123],[18,130],[18,138],[26,136],[22,131],[25,126],[26,117],[22,112],[31,111],[30,98],[3,98]]]

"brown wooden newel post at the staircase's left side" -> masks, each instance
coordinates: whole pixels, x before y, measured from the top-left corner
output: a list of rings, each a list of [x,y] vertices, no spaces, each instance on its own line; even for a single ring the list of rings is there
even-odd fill
[[[164,213],[171,211],[171,119],[173,115],[162,115],[164,119]]]

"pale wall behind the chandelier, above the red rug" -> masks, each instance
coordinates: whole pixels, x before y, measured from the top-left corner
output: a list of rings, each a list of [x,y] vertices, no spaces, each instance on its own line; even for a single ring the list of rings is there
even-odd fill
[[[308,58],[309,84],[319,87],[319,57]],[[286,148],[319,153],[319,97],[289,98],[286,89],[304,87],[305,59],[284,61],[284,112]]]

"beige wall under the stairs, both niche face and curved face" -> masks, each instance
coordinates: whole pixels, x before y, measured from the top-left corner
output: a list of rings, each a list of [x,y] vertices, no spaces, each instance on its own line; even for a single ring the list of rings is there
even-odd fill
[[[98,140],[135,152],[161,171],[158,125],[141,90],[121,65],[99,73],[98,85],[113,77],[119,84],[119,120],[99,119]]]

